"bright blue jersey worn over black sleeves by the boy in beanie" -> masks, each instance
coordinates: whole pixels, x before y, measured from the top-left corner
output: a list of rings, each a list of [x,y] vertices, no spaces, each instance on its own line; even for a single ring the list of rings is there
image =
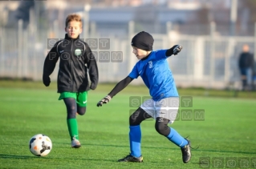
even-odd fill
[[[136,62],[128,75],[131,78],[140,76],[155,101],[179,96],[165,53],[166,50],[152,50],[148,58]]]

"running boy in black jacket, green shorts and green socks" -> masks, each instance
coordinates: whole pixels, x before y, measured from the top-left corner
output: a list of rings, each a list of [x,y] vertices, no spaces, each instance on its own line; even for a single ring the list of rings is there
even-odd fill
[[[82,19],[78,14],[66,18],[65,38],[55,43],[47,54],[43,66],[43,84],[48,87],[50,74],[59,60],[58,93],[67,107],[67,127],[71,136],[71,147],[79,148],[79,132],[76,114],[84,115],[87,106],[87,91],[95,90],[99,73],[94,55],[86,42],[79,39]],[[87,71],[91,84],[89,84]]]

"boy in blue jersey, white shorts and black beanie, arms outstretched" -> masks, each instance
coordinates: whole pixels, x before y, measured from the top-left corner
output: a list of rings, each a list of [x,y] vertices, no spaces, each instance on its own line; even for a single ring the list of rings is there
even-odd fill
[[[101,107],[108,103],[114,95],[128,86],[134,78],[139,76],[149,89],[152,99],[146,100],[129,118],[130,154],[119,159],[119,162],[143,162],[140,151],[141,130],[140,123],[145,119],[156,119],[155,128],[160,135],[181,147],[183,163],[188,163],[191,158],[190,141],[181,137],[168,123],[176,119],[179,108],[179,95],[166,58],[178,54],[182,46],[175,45],[169,50],[152,50],[154,39],[147,32],[140,32],[132,38],[132,53],[140,61],[136,62],[132,72],[116,84],[116,87],[97,103]]]

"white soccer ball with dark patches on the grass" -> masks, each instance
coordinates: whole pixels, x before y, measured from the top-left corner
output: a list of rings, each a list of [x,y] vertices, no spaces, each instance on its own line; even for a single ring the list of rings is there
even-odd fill
[[[52,148],[51,139],[47,135],[34,135],[29,143],[30,152],[36,156],[46,156]]]

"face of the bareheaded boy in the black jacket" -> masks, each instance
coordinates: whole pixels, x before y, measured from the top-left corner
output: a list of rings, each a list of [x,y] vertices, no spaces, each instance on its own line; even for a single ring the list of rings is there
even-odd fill
[[[67,27],[65,28],[69,38],[77,38],[82,32],[81,22],[71,21],[68,22]]]

